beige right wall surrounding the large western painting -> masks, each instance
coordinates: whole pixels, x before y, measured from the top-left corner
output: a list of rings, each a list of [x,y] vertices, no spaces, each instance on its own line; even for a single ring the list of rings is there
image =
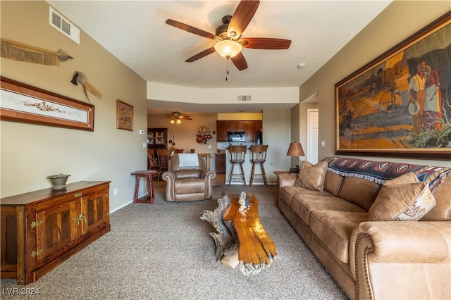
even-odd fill
[[[450,1],[394,1],[299,88],[300,99],[319,92],[319,159],[335,154],[334,85],[450,10]],[[370,158],[451,166],[450,161]]]

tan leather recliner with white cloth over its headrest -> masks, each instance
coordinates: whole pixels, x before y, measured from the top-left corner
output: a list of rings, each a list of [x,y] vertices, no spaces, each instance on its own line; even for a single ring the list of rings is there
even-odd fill
[[[169,170],[162,175],[166,181],[166,201],[210,199],[213,194],[211,180],[214,177],[216,172],[205,170],[204,160],[197,154],[174,154]]]

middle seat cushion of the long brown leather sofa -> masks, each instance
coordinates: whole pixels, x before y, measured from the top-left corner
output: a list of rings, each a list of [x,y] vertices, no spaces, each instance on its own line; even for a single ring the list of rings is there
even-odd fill
[[[298,189],[301,189],[300,187]],[[307,189],[304,189],[307,190]],[[330,211],[347,211],[347,212],[359,212],[366,213],[366,211],[352,204],[350,201],[346,201],[333,196],[328,192],[316,192],[317,194],[295,194],[291,200],[292,210],[299,215],[304,223],[309,225],[312,211],[318,210],[330,210]],[[327,193],[328,195],[324,195]]]

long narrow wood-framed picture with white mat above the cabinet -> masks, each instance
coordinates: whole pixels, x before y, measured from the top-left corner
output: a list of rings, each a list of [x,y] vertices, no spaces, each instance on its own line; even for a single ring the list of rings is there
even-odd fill
[[[94,105],[1,77],[0,119],[94,131]]]

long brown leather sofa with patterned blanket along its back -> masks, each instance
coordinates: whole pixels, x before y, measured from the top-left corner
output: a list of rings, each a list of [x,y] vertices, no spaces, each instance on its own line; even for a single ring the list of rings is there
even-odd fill
[[[279,175],[278,207],[347,296],[451,299],[451,169],[356,158],[324,161],[322,192],[299,186],[297,174]],[[412,173],[426,183],[394,185]],[[402,189],[396,192],[388,182]],[[397,200],[384,196],[406,198],[408,192],[400,191],[418,185],[424,185],[422,194],[432,192],[427,201],[435,199],[418,222],[375,217],[400,218],[393,215]]]

